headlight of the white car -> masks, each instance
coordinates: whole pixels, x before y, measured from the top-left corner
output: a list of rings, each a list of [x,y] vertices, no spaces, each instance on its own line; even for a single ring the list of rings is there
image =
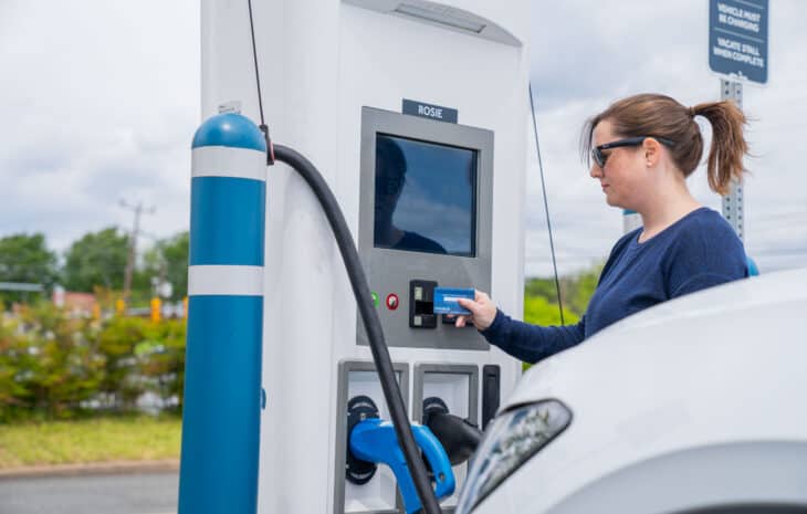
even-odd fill
[[[494,419],[468,471],[457,514],[470,513],[570,421],[572,411],[557,400],[516,407]]]

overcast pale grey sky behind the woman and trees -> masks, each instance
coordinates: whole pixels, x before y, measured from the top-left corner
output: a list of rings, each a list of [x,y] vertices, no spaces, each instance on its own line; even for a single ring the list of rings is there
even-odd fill
[[[746,249],[763,272],[807,263],[807,4],[771,3],[769,84],[744,88],[756,156],[747,161]],[[535,6],[533,88],[564,274],[604,259],[622,230],[621,212],[579,161],[586,117],[635,93],[693,105],[719,99],[720,86],[708,67],[706,0]],[[122,199],[155,208],[143,219],[151,237],[187,229],[189,140],[200,116],[197,0],[0,0],[0,237],[44,232],[61,251],[87,231],[130,227]],[[526,272],[547,275],[531,156]],[[702,169],[690,187],[720,210]]]

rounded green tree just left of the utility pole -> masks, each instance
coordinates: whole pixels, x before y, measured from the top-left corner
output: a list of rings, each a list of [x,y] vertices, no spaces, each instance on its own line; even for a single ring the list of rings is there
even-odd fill
[[[65,253],[64,287],[87,293],[95,287],[120,290],[128,250],[129,237],[114,227],[84,234]]]

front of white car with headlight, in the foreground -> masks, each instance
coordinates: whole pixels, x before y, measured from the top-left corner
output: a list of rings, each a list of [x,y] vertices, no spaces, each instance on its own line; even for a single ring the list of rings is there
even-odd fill
[[[807,512],[807,269],[647,310],[527,371],[457,514]]]

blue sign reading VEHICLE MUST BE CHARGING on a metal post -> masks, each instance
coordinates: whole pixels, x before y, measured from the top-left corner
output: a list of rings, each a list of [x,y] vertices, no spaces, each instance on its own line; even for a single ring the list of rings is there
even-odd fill
[[[768,81],[768,0],[709,0],[709,67],[737,81]]]

